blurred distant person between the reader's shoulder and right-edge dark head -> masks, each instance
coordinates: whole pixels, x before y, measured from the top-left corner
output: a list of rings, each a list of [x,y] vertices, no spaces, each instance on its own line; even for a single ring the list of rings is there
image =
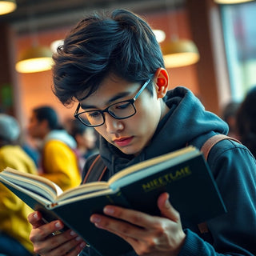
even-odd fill
[[[222,111],[222,119],[228,124],[228,135],[232,138],[238,138],[238,134],[236,133],[236,114],[239,106],[239,102],[231,101],[226,104]]]

